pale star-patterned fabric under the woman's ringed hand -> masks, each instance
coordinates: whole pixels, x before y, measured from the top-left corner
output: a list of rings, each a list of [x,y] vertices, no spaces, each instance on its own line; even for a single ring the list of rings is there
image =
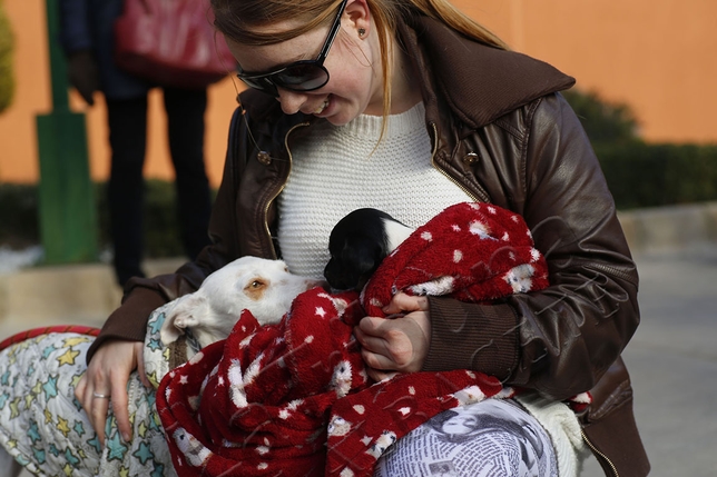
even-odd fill
[[[161,315],[161,314],[159,314]],[[0,344],[0,445],[33,475],[174,476],[154,389],[129,380],[132,439],[108,416],[106,445],[75,399],[96,331],[78,327],[30,330]]]

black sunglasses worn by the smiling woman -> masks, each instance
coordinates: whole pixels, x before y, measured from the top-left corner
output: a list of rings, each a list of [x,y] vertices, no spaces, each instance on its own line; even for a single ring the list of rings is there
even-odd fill
[[[302,60],[289,63],[271,72],[249,72],[243,71],[237,77],[247,86],[278,97],[277,88],[288,89],[291,91],[313,91],[328,82],[328,70],[324,67],[324,60],[328,56],[328,50],[336,39],[341,28],[341,16],[344,13],[347,0],[338,6],[336,19],[328,30],[328,37],[324,42],[318,57],[315,60]]]

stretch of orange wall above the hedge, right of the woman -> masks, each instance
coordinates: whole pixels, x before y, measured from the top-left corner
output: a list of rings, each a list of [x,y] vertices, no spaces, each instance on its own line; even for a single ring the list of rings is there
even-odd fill
[[[714,0],[455,0],[513,49],[628,103],[648,141],[717,143]]]

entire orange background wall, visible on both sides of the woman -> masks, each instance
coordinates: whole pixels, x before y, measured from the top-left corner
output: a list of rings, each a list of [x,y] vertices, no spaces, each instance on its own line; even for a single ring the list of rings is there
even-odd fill
[[[546,60],[605,99],[628,103],[649,141],[717,142],[717,2],[714,0],[454,0],[513,49]],[[45,0],[4,0],[16,33],[13,106],[0,115],[0,182],[35,182],[36,115],[50,108]],[[236,96],[226,79],[209,89],[205,153],[217,186]],[[102,101],[87,112],[90,169],[109,170]],[[171,178],[159,93],[150,96],[148,177]]]

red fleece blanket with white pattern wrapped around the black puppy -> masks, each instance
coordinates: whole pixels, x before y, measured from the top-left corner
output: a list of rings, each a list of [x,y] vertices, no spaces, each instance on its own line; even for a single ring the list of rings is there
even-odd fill
[[[489,301],[548,285],[523,219],[487,203],[445,209],[381,265],[361,297],[313,289],[277,325],[245,311],[230,336],[170,371],[157,409],[185,476],[370,476],[395,440],[452,407],[511,396],[456,370],[372,384],[353,327],[397,291]],[[399,318],[400,319],[400,318]]]

